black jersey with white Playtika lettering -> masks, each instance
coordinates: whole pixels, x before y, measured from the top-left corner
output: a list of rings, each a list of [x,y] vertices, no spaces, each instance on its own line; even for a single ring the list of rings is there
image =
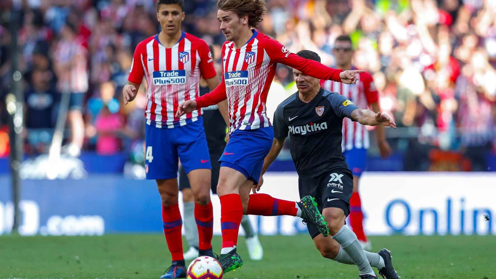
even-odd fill
[[[291,95],[274,113],[274,137],[290,137],[291,157],[300,175],[348,167],[341,153],[343,118],[359,109],[338,93],[320,89],[309,102]]]

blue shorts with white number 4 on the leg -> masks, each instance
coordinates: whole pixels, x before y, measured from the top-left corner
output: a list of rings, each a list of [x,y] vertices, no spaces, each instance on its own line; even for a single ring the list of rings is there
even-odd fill
[[[212,169],[202,117],[176,128],[146,125],[145,142],[146,179],[178,177],[178,158],[186,173]]]

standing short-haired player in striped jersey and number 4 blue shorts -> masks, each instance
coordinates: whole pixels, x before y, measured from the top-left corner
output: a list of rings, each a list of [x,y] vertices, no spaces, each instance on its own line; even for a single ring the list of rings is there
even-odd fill
[[[212,253],[211,165],[201,109],[176,117],[179,104],[198,98],[200,75],[213,90],[219,85],[212,55],[201,39],[181,31],[185,18],[183,0],[158,0],[157,20],[162,31],[139,43],[134,51],[124,103],[132,101],[143,76],[147,84],[146,153],[147,179],[155,179],[162,198],[162,219],[172,265],[161,278],[185,278],[178,207],[178,158],[186,170],[198,226],[199,255]],[[226,102],[219,104],[227,114]]]

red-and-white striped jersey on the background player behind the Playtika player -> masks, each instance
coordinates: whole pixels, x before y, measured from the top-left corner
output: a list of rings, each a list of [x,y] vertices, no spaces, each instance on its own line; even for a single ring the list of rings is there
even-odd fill
[[[325,90],[343,95],[361,109],[368,109],[370,104],[379,100],[379,94],[375,89],[372,76],[367,72],[360,73],[357,84],[320,80],[320,86]],[[342,131],[341,149],[343,152],[353,148],[369,148],[369,131],[364,125],[352,121],[350,118],[344,118]]]

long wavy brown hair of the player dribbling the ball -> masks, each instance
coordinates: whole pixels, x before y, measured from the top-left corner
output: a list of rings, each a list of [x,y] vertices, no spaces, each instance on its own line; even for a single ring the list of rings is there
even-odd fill
[[[263,20],[265,0],[218,0],[217,8],[223,11],[233,11],[239,17],[248,15],[248,25],[258,29]]]

